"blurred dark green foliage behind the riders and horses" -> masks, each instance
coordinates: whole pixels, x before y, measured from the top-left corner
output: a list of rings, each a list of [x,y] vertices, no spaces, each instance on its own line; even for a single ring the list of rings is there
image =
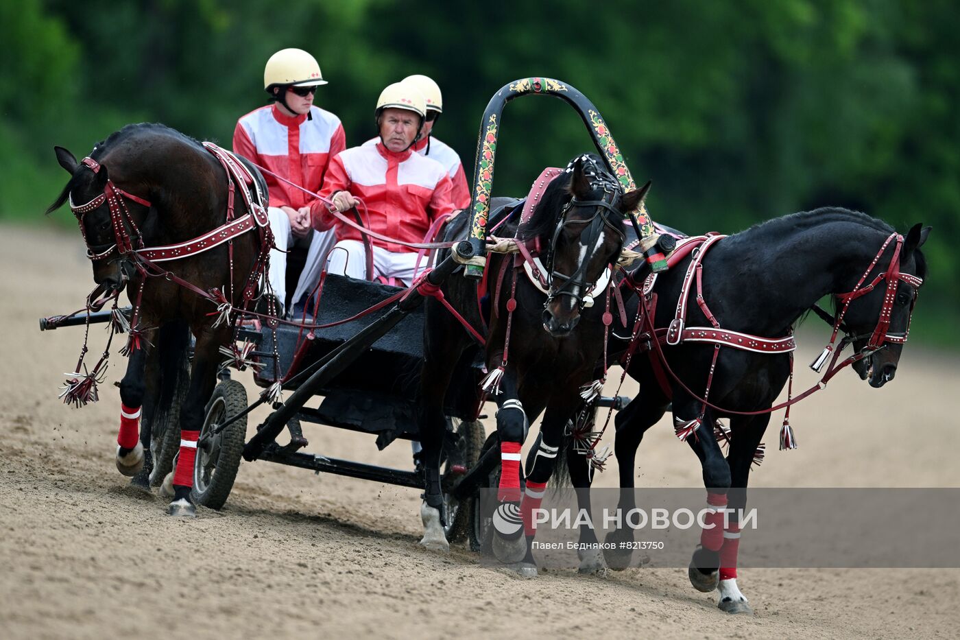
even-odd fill
[[[914,336],[946,343],[960,311],[957,24],[950,0],[2,0],[0,219],[43,220],[66,178],[54,144],[80,157],[152,120],[229,145],[283,47],[320,61],[317,104],[348,145],[373,134],[383,86],[432,76],[436,133],[468,175],[492,93],[550,76],[600,108],[672,226],[732,233],[826,205],[932,224]],[[562,102],[511,103],[494,192],[521,194],[588,145]],[[65,210],[51,220],[72,224]]]

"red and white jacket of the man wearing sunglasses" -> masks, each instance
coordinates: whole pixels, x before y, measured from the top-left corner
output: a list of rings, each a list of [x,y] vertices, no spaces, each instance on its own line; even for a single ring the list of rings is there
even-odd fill
[[[267,105],[237,120],[233,151],[305,189],[319,192],[331,158],[347,148],[340,118],[319,107],[290,116]],[[271,207],[300,209],[315,201],[293,186],[264,175]]]

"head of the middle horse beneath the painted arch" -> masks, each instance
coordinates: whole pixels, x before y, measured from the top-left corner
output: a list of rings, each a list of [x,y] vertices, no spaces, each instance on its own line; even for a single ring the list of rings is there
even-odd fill
[[[539,226],[549,236],[544,265],[550,287],[543,307],[547,332],[561,337],[573,331],[588,296],[603,293],[590,289],[619,258],[624,217],[640,206],[649,188],[647,183],[624,193],[594,155],[571,160],[547,188],[531,221],[532,228]]]

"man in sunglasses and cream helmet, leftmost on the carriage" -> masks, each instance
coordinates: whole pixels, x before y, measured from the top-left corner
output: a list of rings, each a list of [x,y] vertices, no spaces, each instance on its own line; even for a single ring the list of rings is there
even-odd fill
[[[295,185],[319,192],[330,159],[347,148],[340,118],[313,104],[317,87],[325,84],[313,56],[302,49],[277,51],[263,72],[271,104],[237,121],[233,151]],[[310,204],[314,198],[274,176],[264,174],[264,178],[270,189],[270,228],[276,247],[285,251],[298,238],[309,237],[306,262],[290,298],[292,307],[320,280],[334,236],[312,229]],[[270,285],[281,306],[287,299],[286,265],[286,253],[270,253]]]

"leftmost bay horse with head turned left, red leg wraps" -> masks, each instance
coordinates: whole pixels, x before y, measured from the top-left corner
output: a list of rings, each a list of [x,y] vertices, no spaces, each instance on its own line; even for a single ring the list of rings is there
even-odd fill
[[[133,306],[129,324],[119,320],[127,326],[117,328],[130,333],[129,362],[119,384],[116,454],[124,475],[134,476],[144,466],[151,417],[143,416],[140,433],[145,396],[151,412],[161,395],[169,398],[169,390],[158,391],[161,369],[175,372],[187,357],[186,332],[196,338],[180,406],[178,463],[166,481],[168,492],[171,480],[173,485],[168,512],[194,517],[190,490],[197,439],[223,359],[220,349],[233,336],[233,308],[245,308],[259,293],[272,243],[264,213],[266,183],[246,160],[160,124],[128,125],[82,161],[62,147],[55,151],[70,180],[47,212],[69,201],[92,261],[94,294],[118,296],[126,288]],[[164,360],[168,364],[161,366]],[[81,405],[96,399],[90,388],[100,373],[96,369],[68,381],[67,401]]]

